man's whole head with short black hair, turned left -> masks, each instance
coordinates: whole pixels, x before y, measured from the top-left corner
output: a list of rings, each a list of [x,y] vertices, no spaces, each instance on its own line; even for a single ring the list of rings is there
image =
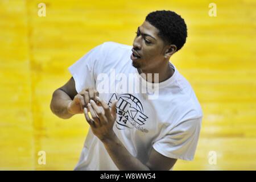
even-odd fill
[[[168,65],[170,57],[186,42],[187,26],[173,11],[154,11],[138,27],[131,56],[133,66],[152,71]]]

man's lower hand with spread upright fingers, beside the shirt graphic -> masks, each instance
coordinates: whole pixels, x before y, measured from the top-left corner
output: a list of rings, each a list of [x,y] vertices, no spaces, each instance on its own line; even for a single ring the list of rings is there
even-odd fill
[[[115,106],[117,105],[118,101],[115,100],[112,103],[111,108],[109,108],[106,102],[101,100],[99,97],[96,97],[96,100],[102,107],[97,106],[96,102],[90,100],[88,109],[92,115],[92,119],[89,117],[88,110],[86,108],[84,108],[84,115],[86,121],[89,123],[92,129],[93,134],[103,142],[105,139],[111,139],[115,136],[113,125],[115,118],[117,118]]]

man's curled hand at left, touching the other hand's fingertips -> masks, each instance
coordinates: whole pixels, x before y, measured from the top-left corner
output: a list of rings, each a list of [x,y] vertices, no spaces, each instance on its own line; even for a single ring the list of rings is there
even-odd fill
[[[93,88],[82,89],[73,99],[73,101],[68,104],[68,112],[71,114],[82,114],[84,113],[84,107],[87,108],[90,100],[94,100],[96,103],[96,97],[98,96],[98,91]]]

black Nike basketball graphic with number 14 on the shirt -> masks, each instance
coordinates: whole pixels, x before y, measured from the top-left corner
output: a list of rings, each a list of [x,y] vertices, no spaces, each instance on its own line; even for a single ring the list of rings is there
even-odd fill
[[[111,106],[114,100],[118,100],[116,105],[117,118],[115,119],[115,127],[118,130],[133,129],[135,127],[144,133],[148,132],[144,128],[148,117],[143,114],[143,106],[138,98],[131,94],[121,94],[118,97],[113,94],[108,105]]]

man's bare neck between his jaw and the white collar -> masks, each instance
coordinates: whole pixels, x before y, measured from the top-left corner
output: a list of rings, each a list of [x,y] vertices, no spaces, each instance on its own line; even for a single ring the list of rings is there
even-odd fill
[[[145,75],[143,76],[143,74],[142,74],[142,77],[145,79],[145,80],[147,80],[147,81],[149,81],[149,82],[162,82],[162,81],[165,81],[165,80],[167,80],[168,78],[170,78],[172,75],[174,75],[174,69],[172,69],[171,68],[171,66],[170,66],[170,64],[169,64],[169,61],[167,62],[167,64],[166,65],[163,65],[163,67],[160,67],[160,68],[158,68],[158,69],[154,69],[154,70],[143,70],[143,69],[137,69],[138,70],[138,72],[139,72],[139,74],[142,74],[142,73],[144,73]],[[150,77],[148,77],[148,73],[151,73],[152,74],[152,78]],[[157,81],[155,81],[155,74],[159,74],[158,75],[158,78],[159,78],[159,80]]]

